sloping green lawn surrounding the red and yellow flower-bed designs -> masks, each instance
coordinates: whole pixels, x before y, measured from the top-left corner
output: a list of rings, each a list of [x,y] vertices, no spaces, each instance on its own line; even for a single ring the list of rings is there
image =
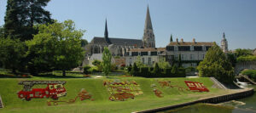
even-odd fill
[[[109,93],[105,88],[101,79],[91,78],[48,78],[48,77],[33,77],[33,78],[2,78],[0,79],[0,94],[3,99],[4,108],[0,112],[131,112],[136,110],[153,109],[166,105],[175,105],[183,102],[209,97],[219,93],[224,93],[224,90],[212,88],[212,82],[209,78],[143,78],[143,77],[118,77],[113,76],[108,79],[123,79],[134,80],[143,90],[143,94],[138,95],[135,99],[127,99],[125,101],[110,101],[108,100]],[[52,99],[32,99],[31,101],[21,100],[17,97],[17,92],[22,89],[18,82],[24,80],[60,80],[67,81],[65,88],[67,96],[61,97],[59,100],[73,99],[79,93],[81,88],[92,94],[94,101],[77,100],[74,104],[68,105],[60,103],[58,106],[47,106],[47,100]],[[194,93],[189,91],[179,91],[177,88],[160,88],[158,80],[170,80],[172,84],[187,88],[184,80],[203,82],[209,93]],[[154,95],[151,84],[157,85],[160,91],[163,92],[163,98],[158,98]],[[36,86],[35,86],[36,87]],[[46,87],[46,85],[44,86]]]

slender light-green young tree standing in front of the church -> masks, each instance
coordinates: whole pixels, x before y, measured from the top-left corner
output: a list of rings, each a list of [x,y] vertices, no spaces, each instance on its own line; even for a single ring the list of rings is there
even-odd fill
[[[112,59],[112,55],[110,54],[108,48],[104,47],[104,51],[102,53],[102,72],[107,77],[111,71],[111,59]]]

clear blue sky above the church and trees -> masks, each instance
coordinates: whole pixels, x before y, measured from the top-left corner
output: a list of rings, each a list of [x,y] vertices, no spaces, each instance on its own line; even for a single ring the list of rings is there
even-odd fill
[[[7,0],[0,0],[0,25]],[[46,10],[55,20],[73,20],[85,30],[84,39],[108,36],[142,39],[147,6],[156,47],[173,40],[220,43],[223,32],[229,49],[256,48],[256,0],[51,0]]]

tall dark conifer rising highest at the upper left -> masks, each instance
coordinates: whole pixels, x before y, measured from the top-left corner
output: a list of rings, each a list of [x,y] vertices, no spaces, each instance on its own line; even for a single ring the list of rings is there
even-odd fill
[[[8,0],[4,17],[5,37],[32,39],[37,33],[36,24],[53,22],[44,7],[49,0]]]

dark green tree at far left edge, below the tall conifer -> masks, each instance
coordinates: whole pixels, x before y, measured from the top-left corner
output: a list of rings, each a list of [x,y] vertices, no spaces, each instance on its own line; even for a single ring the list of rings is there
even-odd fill
[[[19,39],[0,38],[0,62],[4,68],[16,73],[16,70],[24,66],[21,63],[25,54],[24,42],[20,42]]]

